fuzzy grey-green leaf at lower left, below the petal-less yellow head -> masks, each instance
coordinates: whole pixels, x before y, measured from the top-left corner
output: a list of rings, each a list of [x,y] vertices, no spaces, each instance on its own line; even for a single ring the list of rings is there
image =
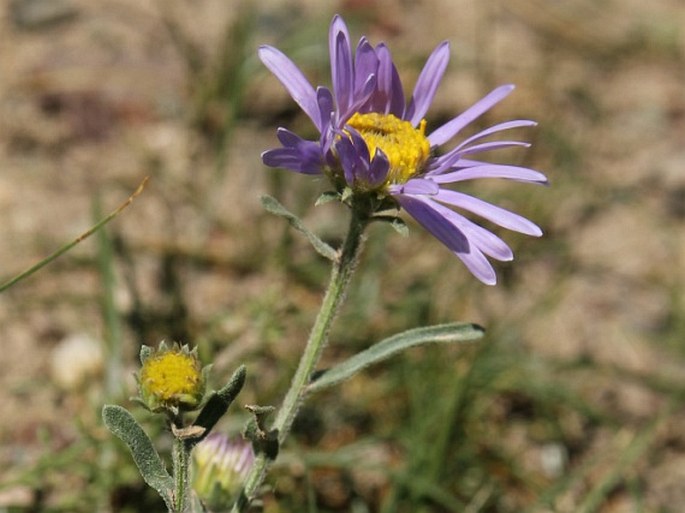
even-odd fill
[[[157,490],[167,507],[173,507],[174,480],[167,472],[159,453],[152,445],[140,424],[128,410],[116,405],[105,405],[102,408],[102,419],[105,426],[124,442],[143,476],[145,482]]]

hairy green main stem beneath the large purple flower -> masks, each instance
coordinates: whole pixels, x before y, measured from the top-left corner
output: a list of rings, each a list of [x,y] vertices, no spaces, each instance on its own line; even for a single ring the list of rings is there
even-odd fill
[[[331,324],[345,297],[347,286],[357,264],[366,224],[366,216],[360,213],[359,210],[352,208],[347,237],[340,250],[339,258],[333,263],[330,282],[324,295],[321,309],[314,321],[314,326],[309,334],[309,340],[300,358],[300,363],[293,376],[290,388],[286,392],[283,404],[274,421],[273,429],[278,431],[279,445],[283,444],[290,433],[290,428],[307,393],[307,385],[311,375],[316,369],[321,353],[328,341]],[[245,480],[243,491],[233,505],[232,513],[242,513],[247,510],[266,477],[270,463],[271,461],[265,454],[257,455],[250,474]]]

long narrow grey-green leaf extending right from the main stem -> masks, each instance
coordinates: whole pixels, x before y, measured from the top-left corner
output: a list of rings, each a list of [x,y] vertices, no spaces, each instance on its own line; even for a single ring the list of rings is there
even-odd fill
[[[386,338],[348,360],[323,371],[310,383],[308,390],[315,392],[336,385],[369,365],[378,363],[400,351],[428,343],[468,342],[479,339],[485,330],[477,324],[451,323],[415,328]]]

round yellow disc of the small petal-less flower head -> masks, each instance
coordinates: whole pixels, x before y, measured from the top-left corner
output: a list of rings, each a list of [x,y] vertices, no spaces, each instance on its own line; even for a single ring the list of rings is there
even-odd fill
[[[202,387],[202,371],[192,355],[169,351],[145,361],[140,384],[158,401],[173,402],[179,396],[198,393]]]

